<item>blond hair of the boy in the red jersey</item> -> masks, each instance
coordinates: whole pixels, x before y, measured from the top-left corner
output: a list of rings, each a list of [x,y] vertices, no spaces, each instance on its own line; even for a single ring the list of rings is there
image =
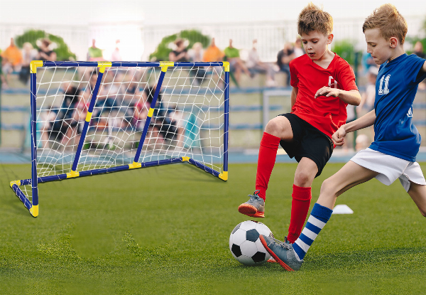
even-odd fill
[[[297,33],[309,34],[312,31],[319,31],[328,35],[333,31],[333,18],[328,13],[312,2],[302,9],[297,20]]]

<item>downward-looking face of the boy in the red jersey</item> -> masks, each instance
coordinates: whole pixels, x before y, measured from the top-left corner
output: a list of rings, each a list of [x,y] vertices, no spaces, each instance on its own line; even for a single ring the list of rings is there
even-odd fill
[[[324,35],[319,31],[302,34],[303,48],[311,60],[319,60],[327,51],[327,45],[333,41],[333,34]]]

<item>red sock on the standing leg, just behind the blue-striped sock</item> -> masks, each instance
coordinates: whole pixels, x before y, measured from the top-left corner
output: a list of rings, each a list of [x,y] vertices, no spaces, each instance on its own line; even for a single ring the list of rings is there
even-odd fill
[[[300,236],[305,224],[312,198],[311,188],[300,188],[300,186],[293,184],[293,194],[291,196],[293,201],[291,203],[290,227],[288,227],[287,239],[293,244],[297,237]]]

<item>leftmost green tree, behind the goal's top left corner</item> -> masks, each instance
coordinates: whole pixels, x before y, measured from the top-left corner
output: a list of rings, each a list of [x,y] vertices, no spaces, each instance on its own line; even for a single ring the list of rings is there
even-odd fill
[[[16,45],[22,48],[23,43],[29,42],[35,49],[38,49],[37,41],[43,38],[48,38],[52,43],[55,43],[56,48],[53,51],[56,53],[56,60],[75,60],[76,55],[70,51],[67,43],[60,36],[46,33],[42,30],[29,30],[20,36],[14,38]]]

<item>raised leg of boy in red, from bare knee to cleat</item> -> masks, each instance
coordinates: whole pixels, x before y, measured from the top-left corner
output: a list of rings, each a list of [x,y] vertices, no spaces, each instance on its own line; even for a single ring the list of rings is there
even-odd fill
[[[277,156],[278,146],[280,141],[291,141],[293,139],[293,129],[291,128],[290,121],[284,116],[278,116],[266,124],[265,132],[261,139],[261,147],[258,155],[258,166],[256,173],[256,191],[253,198],[254,203],[251,199],[239,205],[239,212],[252,217],[264,217],[264,201],[266,199],[266,190],[268,189],[269,178],[273,166],[275,165],[275,159]],[[258,205],[256,205],[258,203]],[[261,208],[261,214],[258,215],[258,207]]]

